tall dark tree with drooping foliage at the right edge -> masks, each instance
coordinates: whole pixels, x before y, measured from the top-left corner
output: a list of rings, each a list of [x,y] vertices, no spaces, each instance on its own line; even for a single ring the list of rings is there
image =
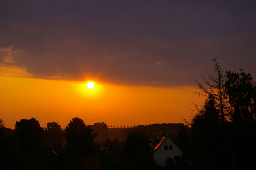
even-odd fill
[[[226,72],[225,93],[232,108],[229,116],[233,124],[233,168],[255,169],[256,151],[256,84],[250,73]],[[241,147],[243,146],[243,147]]]

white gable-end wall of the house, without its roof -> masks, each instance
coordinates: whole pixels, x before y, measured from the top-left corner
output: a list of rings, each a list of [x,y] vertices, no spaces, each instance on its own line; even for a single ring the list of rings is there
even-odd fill
[[[164,150],[164,145],[168,145],[168,150]],[[172,150],[169,150],[169,145],[172,145]],[[172,141],[170,137],[166,137],[163,143],[157,148],[153,153],[154,160],[158,166],[166,166],[166,159],[172,158],[174,161],[174,156],[181,156],[182,151],[178,146]]]

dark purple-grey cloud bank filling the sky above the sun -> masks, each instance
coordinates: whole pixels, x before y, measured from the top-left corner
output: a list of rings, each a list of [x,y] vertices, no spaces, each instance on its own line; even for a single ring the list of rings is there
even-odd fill
[[[194,85],[212,57],[256,75],[254,2],[1,1],[0,62],[125,85]]]

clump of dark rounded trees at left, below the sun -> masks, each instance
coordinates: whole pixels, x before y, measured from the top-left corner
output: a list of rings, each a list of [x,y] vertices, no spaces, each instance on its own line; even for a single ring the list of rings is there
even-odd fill
[[[10,135],[1,136],[1,169],[79,169],[86,167],[80,159],[90,160],[99,150],[97,134],[79,118],[70,120],[65,130],[57,122],[42,128],[31,118],[17,121],[13,131],[1,131]]]

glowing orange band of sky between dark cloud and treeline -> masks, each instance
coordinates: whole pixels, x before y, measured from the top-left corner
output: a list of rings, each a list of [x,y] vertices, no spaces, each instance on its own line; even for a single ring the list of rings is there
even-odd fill
[[[192,102],[200,105],[204,101],[189,86],[136,87],[95,81],[95,88],[87,89],[86,81],[28,78],[31,75],[25,69],[14,66],[1,65],[0,73],[0,116],[8,128],[31,117],[42,127],[56,121],[62,128],[74,117],[87,125],[177,123],[182,118],[191,120],[188,108],[193,108]]]

